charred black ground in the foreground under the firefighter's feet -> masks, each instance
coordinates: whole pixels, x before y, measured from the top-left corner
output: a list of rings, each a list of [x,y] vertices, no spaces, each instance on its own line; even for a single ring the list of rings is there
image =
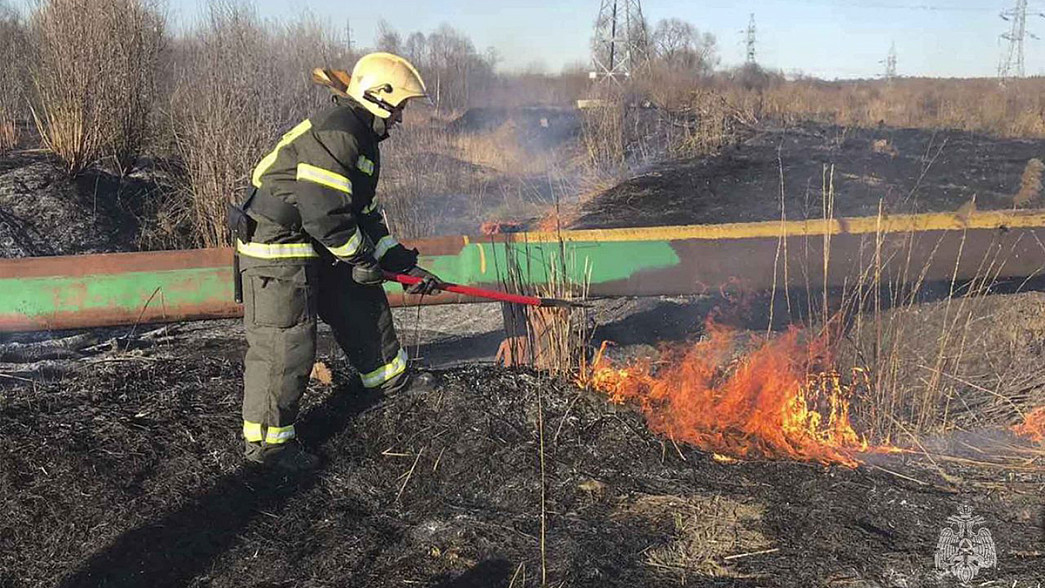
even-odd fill
[[[953,586],[971,505],[998,566],[1042,578],[1040,473],[915,456],[723,465],[526,371],[379,398],[340,360],[299,426],[315,475],[246,468],[241,343],[173,337],[0,379],[0,586]],[[543,444],[543,461],[540,447]],[[543,481],[541,476],[543,464]]]

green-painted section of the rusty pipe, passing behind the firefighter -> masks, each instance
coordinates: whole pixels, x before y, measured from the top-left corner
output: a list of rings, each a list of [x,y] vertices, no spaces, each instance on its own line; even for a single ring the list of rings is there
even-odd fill
[[[421,244],[421,243],[419,243]],[[565,252],[565,263],[561,263]],[[49,258],[55,273],[71,267],[82,275],[3,277],[0,272],[0,331],[59,329],[83,326],[177,321],[189,317],[234,316],[240,312],[232,301],[231,268],[224,262],[186,262],[182,268],[122,271],[124,260],[142,260],[157,254],[125,254]],[[94,260],[107,259],[96,272]],[[213,259],[213,258],[211,258]],[[224,258],[223,258],[224,259]],[[422,256],[420,263],[444,280],[500,287],[509,282],[509,260],[518,266],[524,283],[543,284],[549,276],[565,269],[574,283],[627,278],[641,269],[672,267],[678,263],[668,241],[469,242],[456,255]],[[2,267],[26,267],[44,259],[2,260]],[[144,264],[147,266],[147,262]],[[8,274],[17,272],[8,271]],[[561,278],[559,278],[561,280]],[[398,284],[386,284],[390,295],[400,295]],[[395,299],[398,301],[398,299]],[[429,300],[429,302],[439,302]]]

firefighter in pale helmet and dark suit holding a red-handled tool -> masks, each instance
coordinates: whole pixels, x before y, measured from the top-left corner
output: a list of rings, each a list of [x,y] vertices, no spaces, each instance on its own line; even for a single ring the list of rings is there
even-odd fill
[[[389,234],[374,195],[378,143],[412,99],[427,99],[420,74],[390,53],[362,57],[349,76],[314,70],[333,91],[332,105],[304,120],[253,170],[237,233],[238,284],[248,350],[243,439],[248,462],[285,471],[318,458],[297,442],[295,420],[316,359],[317,319],[358,371],[363,385],[386,394],[411,384],[407,352],[392,324],[382,269],[422,278],[412,293],[441,282],[418,267],[417,250]]]

